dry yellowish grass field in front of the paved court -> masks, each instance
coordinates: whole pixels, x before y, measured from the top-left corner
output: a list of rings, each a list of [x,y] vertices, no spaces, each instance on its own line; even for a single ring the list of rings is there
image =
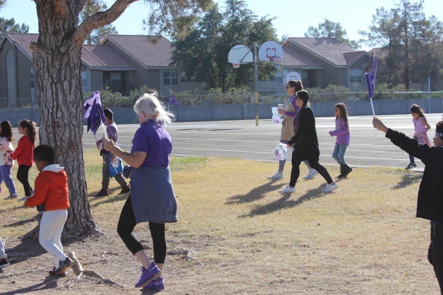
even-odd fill
[[[103,235],[67,241],[85,269],[97,275],[48,276],[52,256],[38,241],[21,240],[37,224],[35,208],[0,200],[0,235],[11,266],[0,270],[3,294],[150,294],[133,285],[139,265],[116,233],[127,196],[111,179],[96,198],[101,158],[85,152],[91,210]],[[324,179],[299,179],[296,193],[269,181],[277,163],[238,158],[173,158],[179,222],[166,226],[168,255],[160,294],[440,294],[427,261],[429,221],[415,218],[421,173],[355,168],[331,194]],[[327,167],[332,176],[339,167]],[[306,166],[302,165],[302,175]],[[16,167],[13,168],[16,173]],[[32,168],[30,179],[36,174]],[[19,191],[21,184],[15,182]],[[136,227],[149,255],[147,224]]]

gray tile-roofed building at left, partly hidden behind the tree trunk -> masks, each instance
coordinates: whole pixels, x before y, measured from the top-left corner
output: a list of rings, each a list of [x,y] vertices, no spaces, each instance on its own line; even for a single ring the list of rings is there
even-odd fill
[[[28,105],[38,97],[30,49],[37,39],[38,34],[7,33],[0,41],[0,107]],[[147,85],[168,95],[171,90],[204,88],[181,81],[179,69],[169,65],[171,54],[170,41],[161,36],[109,35],[102,44],[83,45],[83,92],[107,86],[128,95]]]

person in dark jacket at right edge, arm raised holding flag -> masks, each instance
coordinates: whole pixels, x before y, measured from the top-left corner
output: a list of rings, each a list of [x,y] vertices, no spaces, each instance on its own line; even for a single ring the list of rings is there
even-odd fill
[[[416,217],[430,220],[431,243],[428,260],[434,266],[435,275],[443,290],[443,120],[436,124],[434,147],[420,145],[411,139],[386,127],[380,119],[373,119],[374,128],[386,133],[386,137],[397,147],[419,158],[425,165],[417,198]],[[443,294],[443,293],[442,293]]]

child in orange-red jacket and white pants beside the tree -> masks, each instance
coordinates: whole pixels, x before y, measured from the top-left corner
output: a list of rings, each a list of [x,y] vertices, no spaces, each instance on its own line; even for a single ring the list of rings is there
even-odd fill
[[[64,168],[54,164],[54,149],[47,145],[34,148],[34,162],[40,172],[35,178],[35,193],[25,201],[28,207],[37,207],[42,213],[39,242],[46,251],[54,255],[55,267],[50,275],[64,275],[74,262],[63,253],[63,226],[69,208],[69,192]]]

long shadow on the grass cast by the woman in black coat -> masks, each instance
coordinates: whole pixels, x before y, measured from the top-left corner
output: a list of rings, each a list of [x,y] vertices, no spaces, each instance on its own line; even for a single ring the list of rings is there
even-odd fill
[[[251,210],[249,214],[243,214],[239,217],[252,217],[254,215],[265,215],[273,213],[275,211],[279,211],[283,208],[295,207],[313,198],[323,197],[324,195],[326,195],[326,193],[323,192],[323,189],[324,185],[321,184],[317,188],[307,191],[306,194],[299,197],[298,199],[295,199],[297,197],[296,195],[297,192],[293,194],[284,194],[280,199],[276,200],[275,202],[269,203],[265,206],[257,207]],[[291,200],[289,200],[290,197],[292,197]]]

